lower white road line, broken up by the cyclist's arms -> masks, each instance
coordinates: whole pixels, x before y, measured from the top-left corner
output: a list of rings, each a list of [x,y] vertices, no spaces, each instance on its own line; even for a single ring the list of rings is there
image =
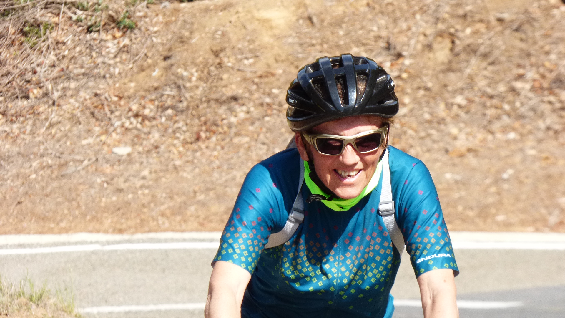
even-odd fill
[[[133,306],[101,306],[79,308],[81,313],[112,313],[136,311],[168,311],[168,310],[202,310],[205,303],[133,305]],[[418,299],[394,299],[396,307],[421,307]],[[485,300],[457,300],[457,307],[465,309],[505,309],[524,306],[522,302],[490,302]]]

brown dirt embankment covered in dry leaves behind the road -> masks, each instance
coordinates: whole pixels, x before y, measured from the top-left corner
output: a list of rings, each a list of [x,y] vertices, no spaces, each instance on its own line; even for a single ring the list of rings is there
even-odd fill
[[[0,233],[220,230],[340,53],[393,75],[451,229],[565,231],[561,2],[43,3],[0,23]]]

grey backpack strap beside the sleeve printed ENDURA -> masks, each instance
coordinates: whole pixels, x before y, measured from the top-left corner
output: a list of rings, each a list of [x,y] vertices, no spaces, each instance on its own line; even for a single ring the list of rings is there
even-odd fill
[[[394,220],[394,201],[392,199],[392,188],[390,187],[390,166],[389,166],[389,152],[386,149],[383,156],[383,186],[381,188],[381,199],[379,203],[379,214],[383,217],[386,226],[386,231],[390,235],[392,243],[396,247],[400,256],[404,251],[404,237],[401,230]]]

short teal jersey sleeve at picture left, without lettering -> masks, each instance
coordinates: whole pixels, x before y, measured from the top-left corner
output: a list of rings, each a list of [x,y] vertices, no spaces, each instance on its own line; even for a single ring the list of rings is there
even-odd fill
[[[228,261],[253,273],[273,225],[281,222],[281,199],[266,167],[255,165],[237,196],[212,264]]]

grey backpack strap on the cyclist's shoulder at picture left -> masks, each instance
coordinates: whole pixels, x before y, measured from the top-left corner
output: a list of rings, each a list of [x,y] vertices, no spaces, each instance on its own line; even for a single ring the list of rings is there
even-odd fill
[[[286,224],[281,231],[277,233],[272,233],[269,237],[265,248],[271,248],[279,246],[288,242],[292,237],[294,232],[298,229],[298,226],[304,220],[304,200],[302,199],[302,184],[304,183],[304,161],[300,160],[300,176],[298,178],[298,194],[296,199],[294,199],[294,204],[292,209],[288,214],[288,219],[286,219]]]

